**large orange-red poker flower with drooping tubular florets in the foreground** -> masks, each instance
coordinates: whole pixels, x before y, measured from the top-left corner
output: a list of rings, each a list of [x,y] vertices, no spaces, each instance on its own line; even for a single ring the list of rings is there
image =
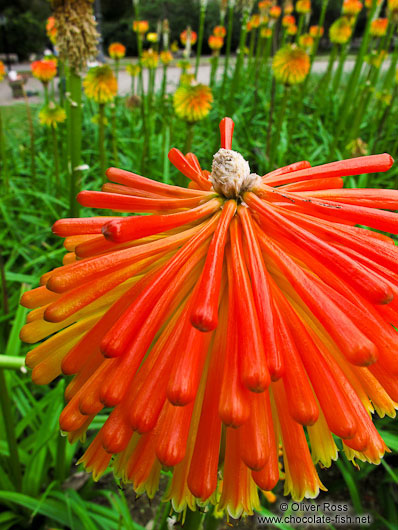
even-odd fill
[[[73,375],[60,425],[70,441],[111,407],[81,461],[152,497],[162,466],[176,510],[258,507],[280,478],[315,497],[315,465],[346,456],[379,463],[371,421],[398,402],[395,190],[344,189],[388,170],[387,154],[263,177],[220,124],[212,171],[170,151],[189,189],[110,168],[82,206],[152,215],[62,219],[64,265],[25,293],[21,338],[33,380]],[[43,340],[45,339],[45,340]],[[221,444],[225,439],[225,444]],[[308,441],[307,441],[308,439]],[[250,449],[250,450],[249,450]],[[222,471],[223,480],[219,481]]]

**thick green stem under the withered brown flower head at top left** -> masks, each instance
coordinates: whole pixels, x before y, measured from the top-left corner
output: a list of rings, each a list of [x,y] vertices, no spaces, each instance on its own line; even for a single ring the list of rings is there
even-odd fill
[[[81,147],[82,147],[82,78],[71,70],[70,87],[70,180],[69,180],[69,214],[78,216],[76,195],[80,187]]]

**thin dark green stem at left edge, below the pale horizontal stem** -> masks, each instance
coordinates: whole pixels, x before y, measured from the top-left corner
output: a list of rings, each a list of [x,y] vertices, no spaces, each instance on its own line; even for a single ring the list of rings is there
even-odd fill
[[[14,418],[11,413],[12,404],[3,370],[0,370],[0,407],[3,413],[8,450],[10,452],[11,480],[13,480],[16,489],[20,491],[22,487],[22,469],[14,430]]]

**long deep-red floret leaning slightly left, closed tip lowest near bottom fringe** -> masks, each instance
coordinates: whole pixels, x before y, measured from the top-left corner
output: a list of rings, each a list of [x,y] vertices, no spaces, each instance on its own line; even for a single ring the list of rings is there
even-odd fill
[[[189,468],[188,487],[195,497],[205,501],[217,488],[217,470],[221,441],[221,419],[215,404],[220,401],[227,341],[228,297],[224,294],[220,323],[211,350],[205,394]]]

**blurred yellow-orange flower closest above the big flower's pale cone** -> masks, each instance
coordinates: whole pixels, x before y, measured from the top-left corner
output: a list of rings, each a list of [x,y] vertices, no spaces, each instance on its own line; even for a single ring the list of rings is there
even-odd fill
[[[175,113],[189,123],[205,118],[210,112],[212,102],[211,88],[202,84],[181,84],[173,97]]]

